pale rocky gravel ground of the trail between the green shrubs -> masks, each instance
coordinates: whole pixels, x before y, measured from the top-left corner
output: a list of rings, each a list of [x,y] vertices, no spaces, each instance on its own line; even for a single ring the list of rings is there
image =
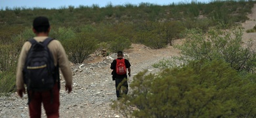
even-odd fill
[[[256,24],[256,7],[248,17],[250,19],[242,24],[245,30],[253,28]],[[244,32],[243,39],[244,41],[248,39],[256,41],[256,33]],[[175,44],[179,43],[181,40],[175,41]],[[131,62],[132,76],[129,77],[129,83],[139,71],[144,69],[150,72],[158,71],[152,67],[152,64],[163,58],[179,55],[179,50],[171,46],[158,50],[137,44],[133,44],[132,47],[125,51]],[[112,100],[117,100],[115,83],[110,74],[112,71],[110,64],[113,58],[116,58],[114,54],[100,58],[95,56],[93,60],[84,64],[71,65],[74,73],[74,90],[71,94],[67,94],[63,87],[64,80],[61,80],[60,117],[122,117],[117,111],[110,109]],[[19,98],[16,93],[0,97],[0,117],[29,117],[27,99],[26,95],[24,98]],[[45,117],[44,111],[42,116]]]

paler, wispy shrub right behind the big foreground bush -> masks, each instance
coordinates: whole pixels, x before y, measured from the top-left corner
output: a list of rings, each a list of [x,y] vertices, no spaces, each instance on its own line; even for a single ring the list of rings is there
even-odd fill
[[[254,72],[256,53],[253,42],[242,41],[242,30],[231,31],[210,30],[207,34],[202,30],[189,30],[188,37],[182,45],[181,60],[225,60],[238,71]]]

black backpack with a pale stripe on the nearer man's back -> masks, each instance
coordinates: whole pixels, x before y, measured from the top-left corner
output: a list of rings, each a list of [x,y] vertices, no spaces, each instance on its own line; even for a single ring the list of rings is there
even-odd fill
[[[54,66],[53,54],[47,47],[53,38],[47,38],[43,42],[37,42],[35,39],[29,41],[32,47],[28,51],[23,69],[27,90],[51,91],[58,77],[58,66]]]

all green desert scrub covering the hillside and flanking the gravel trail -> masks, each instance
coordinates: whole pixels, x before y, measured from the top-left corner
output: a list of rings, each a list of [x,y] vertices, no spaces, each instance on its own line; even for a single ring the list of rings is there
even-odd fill
[[[140,72],[131,94],[114,102],[112,108],[125,116],[255,117],[255,52],[250,41],[242,46],[238,28],[255,3],[6,7],[0,10],[0,92],[15,91],[18,54],[34,36],[32,20],[40,15],[49,18],[50,36],[64,45],[73,63],[100,49],[116,52],[131,43],[161,49],[185,39],[173,45],[181,56],[154,64],[160,73]]]

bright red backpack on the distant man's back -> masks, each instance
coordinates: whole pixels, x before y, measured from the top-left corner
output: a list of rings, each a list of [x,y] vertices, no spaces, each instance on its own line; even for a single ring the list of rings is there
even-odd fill
[[[125,59],[122,58],[116,59],[116,73],[117,75],[125,75],[126,74],[126,66],[125,66]]]

